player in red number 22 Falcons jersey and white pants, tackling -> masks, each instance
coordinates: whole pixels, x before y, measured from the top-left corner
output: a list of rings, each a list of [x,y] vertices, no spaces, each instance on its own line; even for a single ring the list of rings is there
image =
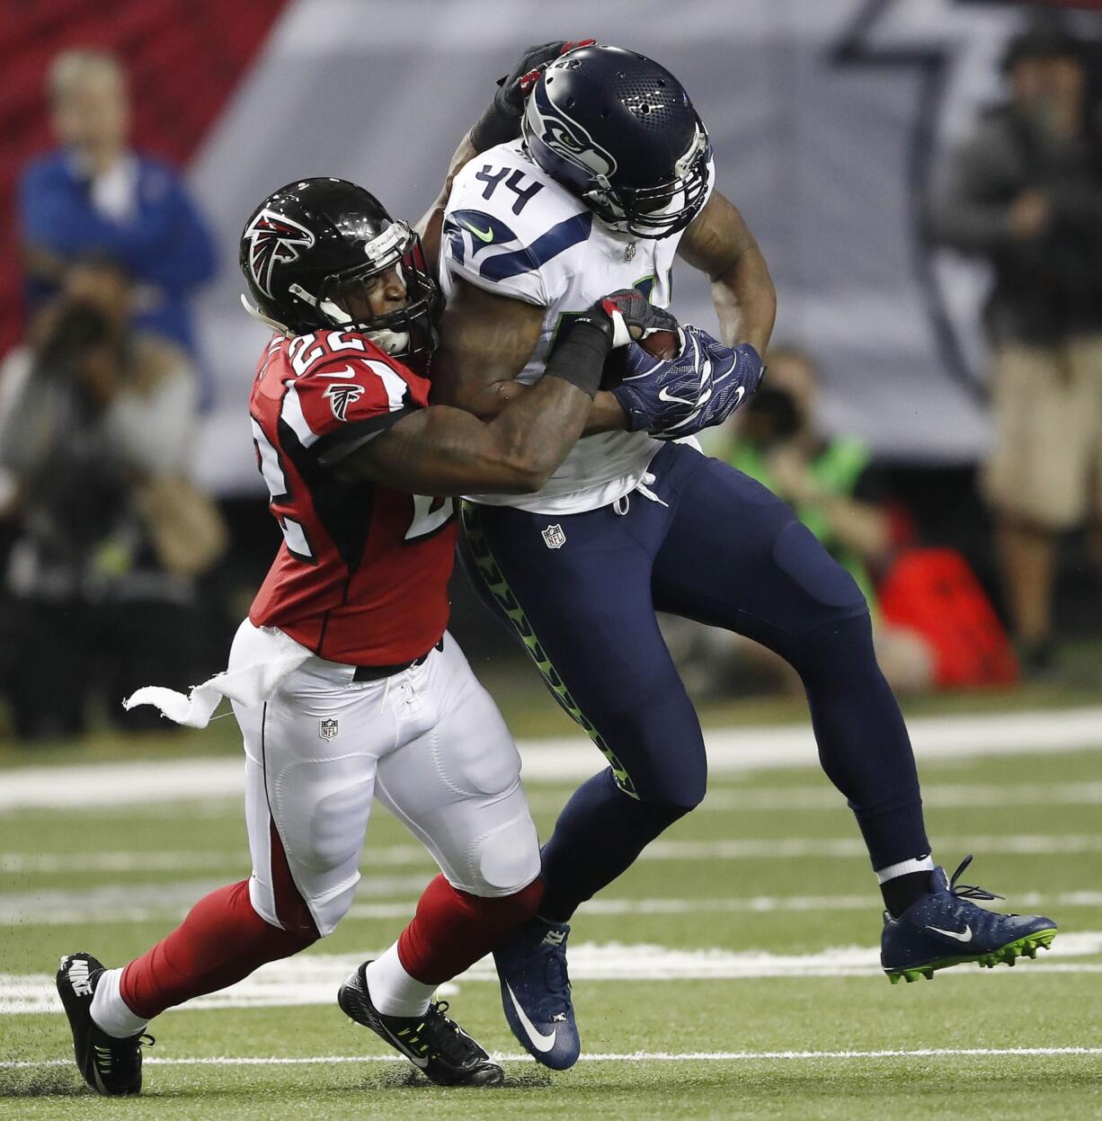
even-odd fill
[[[539,846],[516,747],[445,630],[452,498],[538,489],[581,435],[610,348],[676,321],[613,294],[559,333],[530,393],[483,423],[429,405],[443,300],[418,235],[367,191],[313,178],[270,195],[241,267],[277,332],[250,413],[284,543],[228,670],[191,698],[152,688],[128,704],[202,726],[231,698],[252,874],[124,969],[63,958],[77,1064],[101,1093],[137,1093],[154,1016],[330,934],[377,797],[442,874],[339,1003],[434,1082],[493,1084],[501,1068],[430,1001],[534,914]]]

